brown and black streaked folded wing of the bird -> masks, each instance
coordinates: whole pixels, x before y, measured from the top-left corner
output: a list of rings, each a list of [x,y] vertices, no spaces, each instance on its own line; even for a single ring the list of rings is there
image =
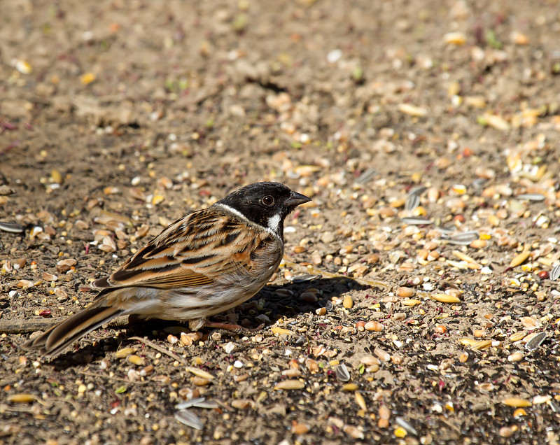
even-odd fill
[[[188,288],[253,269],[255,252],[269,248],[266,231],[210,207],[169,225],[96,288]]]

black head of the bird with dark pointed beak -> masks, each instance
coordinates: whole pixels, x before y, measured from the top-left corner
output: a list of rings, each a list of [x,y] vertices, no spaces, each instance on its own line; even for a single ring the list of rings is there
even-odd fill
[[[280,183],[246,185],[218,201],[241,213],[248,220],[271,229],[283,239],[284,218],[297,206],[309,202],[307,196]]]

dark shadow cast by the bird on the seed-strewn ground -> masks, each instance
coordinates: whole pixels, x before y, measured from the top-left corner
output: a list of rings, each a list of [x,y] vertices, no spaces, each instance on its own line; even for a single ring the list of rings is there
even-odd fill
[[[332,309],[332,297],[339,297],[351,290],[365,290],[369,285],[363,285],[349,277],[321,278],[316,276],[296,277],[294,281],[283,285],[267,285],[254,297],[230,310],[230,313],[220,313],[211,316],[210,320],[222,323],[241,324],[248,329],[265,325],[274,325],[280,318],[295,318],[299,314],[316,313],[320,308],[325,311]],[[235,315],[232,316],[231,311]],[[237,320],[236,320],[237,318]],[[171,327],[186,327],[188,323],[173,320],[133,320],[123,326],[127,331],[126,337],[144,337],[158,339],[165,338]],[[203,328],[203,332],[211,332],[209,328]],[[227,335],[227,334],[226,334]],[[235,337],[235,332],[231,333]],[[204,337],[203,337],[204,338]],[[96,346],[90,341],[87,345],[77,351],[69,351],[52,360],[55,369],[66,369],[67,362],[74,364],[90,363],[92,360],[101,358],[106,351],[116,351],[121,347],[125,337],[105,337],[99,339]]]

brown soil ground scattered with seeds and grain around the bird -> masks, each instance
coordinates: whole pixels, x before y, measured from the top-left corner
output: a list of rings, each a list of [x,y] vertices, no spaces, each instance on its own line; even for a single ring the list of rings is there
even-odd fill
[[[41,362],[3,334],[0,443],[557,443],[559,10],[3,2],[2,326],[239,185],[314,202],[222,316],[253,336],[113,325]]]

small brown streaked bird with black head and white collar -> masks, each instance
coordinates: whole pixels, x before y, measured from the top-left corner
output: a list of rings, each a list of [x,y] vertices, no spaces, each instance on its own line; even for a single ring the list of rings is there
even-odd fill
[[[206,209],[179,218],[92,287],[92,304],[22,348],[55,358],[85,334],[117,316],[188,322],[253,297],[283,257],[283,223],[308,197],[275,182],[245,185]],[[215,323],[216,324],[216,323]]]

